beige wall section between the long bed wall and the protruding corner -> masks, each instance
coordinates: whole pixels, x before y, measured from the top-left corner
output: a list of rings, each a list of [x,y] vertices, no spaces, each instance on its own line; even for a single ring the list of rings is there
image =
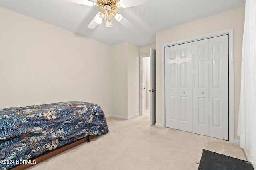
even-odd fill
[[[120,43],[111,47],[111,89],[112,114],[128,116],[128,43]]]

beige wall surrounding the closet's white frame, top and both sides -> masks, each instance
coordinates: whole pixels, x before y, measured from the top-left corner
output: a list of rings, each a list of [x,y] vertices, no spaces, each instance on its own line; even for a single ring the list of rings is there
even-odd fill
[[[163,43],[178,41],[190,37],[234,28],[234,136],[237,134],[238,106],[240,100],[240,72],[242,55],[242,37],[244,29],[244,7],[221,14],[192,21],[156,33],[156,123],[162,124],[162,49]]]

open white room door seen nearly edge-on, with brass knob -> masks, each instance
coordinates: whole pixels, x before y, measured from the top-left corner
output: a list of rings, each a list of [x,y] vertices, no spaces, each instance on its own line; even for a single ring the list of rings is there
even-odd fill
[[[150,86],[151,86],[151,108],[150,108],[150,124],[156,123],[156,50],[150,48]]]

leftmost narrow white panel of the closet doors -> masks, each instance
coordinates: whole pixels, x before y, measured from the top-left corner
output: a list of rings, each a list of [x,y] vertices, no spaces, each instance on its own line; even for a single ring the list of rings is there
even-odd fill
[[[178,45],[165,48],[165,126],[178,129]]]

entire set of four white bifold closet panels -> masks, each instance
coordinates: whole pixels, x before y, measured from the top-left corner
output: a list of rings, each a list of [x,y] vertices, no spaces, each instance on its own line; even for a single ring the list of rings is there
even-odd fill
[[[228,35],[165,48],[166,127],[228,140]]]

